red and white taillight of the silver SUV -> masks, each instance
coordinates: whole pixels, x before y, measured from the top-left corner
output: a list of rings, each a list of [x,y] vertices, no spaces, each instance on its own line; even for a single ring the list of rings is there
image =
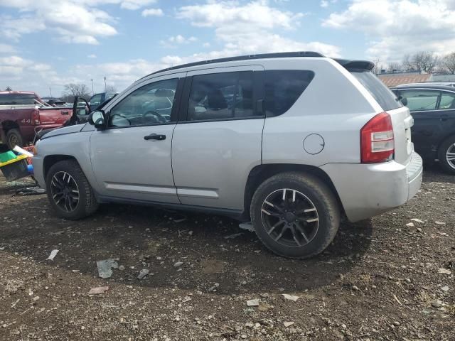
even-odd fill
[[[390,161],[394,152],[392,119],[387,112],[381,112],[360,130],[361,160],[362,163]]]

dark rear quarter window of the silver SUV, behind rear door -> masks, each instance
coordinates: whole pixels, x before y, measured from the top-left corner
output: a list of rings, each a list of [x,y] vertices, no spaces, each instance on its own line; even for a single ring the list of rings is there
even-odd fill
[[[287,112],[314,78],[309,70],[265,71],[264,109],[267,117]]]

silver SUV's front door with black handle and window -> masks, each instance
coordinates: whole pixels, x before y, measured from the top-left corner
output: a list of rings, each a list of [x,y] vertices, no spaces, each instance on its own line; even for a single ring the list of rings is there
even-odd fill
[[[171,144],[177,85],[184,76],[143,82],[107,106],[107,129],[95,131],[90,138],[100,195],[178,203]],[[171,104],[164,109],[163,103]]]

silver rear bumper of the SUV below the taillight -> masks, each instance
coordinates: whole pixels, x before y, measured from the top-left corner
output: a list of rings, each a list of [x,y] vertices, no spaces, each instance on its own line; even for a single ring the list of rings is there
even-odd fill
[[[405,204],[422,183],[422,158],[410,163],[329,163],[321,167],[331,178],[350,222],[367,219]]]

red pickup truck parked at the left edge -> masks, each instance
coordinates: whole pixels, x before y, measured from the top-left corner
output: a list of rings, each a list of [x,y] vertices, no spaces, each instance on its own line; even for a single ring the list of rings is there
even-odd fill
[[[25,146],[37,131],[60,128],[73,115],[72,108],[53,107],[35,92],[0,92],[0,138],[3,144]]]

